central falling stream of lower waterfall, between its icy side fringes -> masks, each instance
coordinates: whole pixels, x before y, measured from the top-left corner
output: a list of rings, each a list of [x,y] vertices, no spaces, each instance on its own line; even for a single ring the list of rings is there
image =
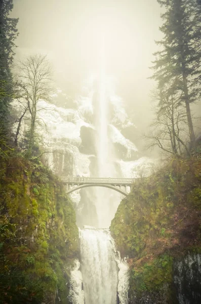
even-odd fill
[[[116,304],[118,272],[108,233],[81,230],[81,259],[86,304]]]

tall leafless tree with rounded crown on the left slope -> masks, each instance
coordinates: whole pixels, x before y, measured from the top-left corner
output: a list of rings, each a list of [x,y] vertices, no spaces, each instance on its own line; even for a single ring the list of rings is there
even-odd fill
[[[19,72],[21,100],[27,105],[25,108],[27,107],[30,115],[27,148],[27,156],[30,157],[35,143],[35,128],[36,121],[38,120],[37,112],[42,109],[38,108],[38,102],[39,100],[50,101],[51,99],[53,91],[51,86],[52,69],[46,56],[34,55],[20,62]],[[23,118],[23,116],[21,116],[20,119],[21,118]]]

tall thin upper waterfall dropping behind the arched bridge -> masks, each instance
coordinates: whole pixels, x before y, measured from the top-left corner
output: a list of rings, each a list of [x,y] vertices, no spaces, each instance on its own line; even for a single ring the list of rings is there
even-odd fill
[[[97,156],[97,170],[94,177],[120,177],[116,175],[114,167],[114,151],[109,138],[109,124],[110,124],[110,87],[111,80],[106,74],[106,60],[105,60],[105,44],[102,37],[100,47],[100,67],[99,78],[97,86],[97,94],[95,95],[95,128],[96,128],[96,156]],[[95,206],[98,216],[96,227],[109,227],[110,222],[115,214],[117,206],[120,202],[120,195],[111,192],[110,189],[96,187],[94,189],[96,196]]]

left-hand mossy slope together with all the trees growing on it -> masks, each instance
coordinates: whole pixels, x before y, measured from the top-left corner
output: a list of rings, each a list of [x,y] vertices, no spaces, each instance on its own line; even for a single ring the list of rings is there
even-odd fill
[[[1,0],[0,9],[0,303],[67,303],[78,250],[75,212],[42,164],[35,132],[36,104],[51,94],[50,68],[45,56],[32,56],[14,81],[18,19],[10,16],[12,0]],[[14,99],[19,117],[11,111]],[[29,130],[21,134],[24,119]]]

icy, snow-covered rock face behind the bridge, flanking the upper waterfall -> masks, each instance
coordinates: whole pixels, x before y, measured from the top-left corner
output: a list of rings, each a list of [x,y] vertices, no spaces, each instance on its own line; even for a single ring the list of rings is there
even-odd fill
[[[138,131],[130,121],[123,101],[114,97],[113,92],[107,96],[108,121],[106,122],[107,134],[104,136],[108,137],[106,141],[109,145],[107,154],[109,166],[106,167],[110,172],[101,174],[103,177],[104,175],[105,177],[132,177],[138,175],[139,167],[149,168],[150,164],[134,144]],[[61,90],[57,90],[57,93],[52,96],[52,103],[43,100],[38,102],[37,140],[43,142],[42,150],[48,151],[43,154],[43,162],[46,162],[58,176],[97,177],[99,175],[98,163],[101,153],[100,155],[98,153],[100,151],[98,143],[101,127],[98,124],[100,118],[98,104],[99,99],[94,84],[83,91],[83,96],[78,96],[74,101]],[[13,106],[16,111],[19,104],[14,102]],[[27,121],[22,122],[21,132],[23,130],[28,130]],[[19,136],[19,142],[20,139]],[[101,191],[106,190],[101,189]],[[110,201],[110,203],[105,203],[105,213],[112,213],[106,226],[110,224],[120,202],[117,193],[112,193],[111,198],[110,193],[105,194]],[[100,204],[96,203],[100,199],[97,188],[81,189],[72,193],[70,197],[75,205],[77,224],[97,226],[100,213],[98,208]]]

